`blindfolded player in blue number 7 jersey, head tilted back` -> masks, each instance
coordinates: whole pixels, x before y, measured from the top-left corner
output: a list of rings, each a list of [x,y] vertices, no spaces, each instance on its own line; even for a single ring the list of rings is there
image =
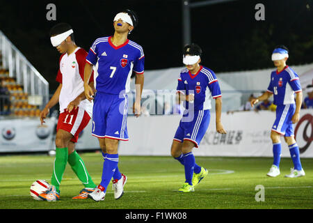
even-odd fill
[[[93,107],[92,134],[99,139],[104,157],[102,181],[88,197],[95,201],[104,200],[106,189],[113,177],[114,197],[122,197],[127,177],[118,169],[118,144],[127,141],[127,92],[132,72],[136,73],[136,100],[133,112],[141,114],[141,93],[145,56],[143,48],[128,39],[136,28],[138,17],[131,10],[118,13],[113,20],[113,36],[98,38],[86,56],[85,94],[93,100],[93,89],[88,79],[93,67],[97,69],[95,101]]]

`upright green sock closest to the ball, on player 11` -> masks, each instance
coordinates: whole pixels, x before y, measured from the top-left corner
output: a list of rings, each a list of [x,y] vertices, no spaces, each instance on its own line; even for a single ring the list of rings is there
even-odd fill
[[[65,171],[67,156],[67,148],[56,148],[56,159],[54,160],[54,171],[51,177],[51,185],[56,187],[57,192],[60,191],[58,188],[60,187],[63,173]]]

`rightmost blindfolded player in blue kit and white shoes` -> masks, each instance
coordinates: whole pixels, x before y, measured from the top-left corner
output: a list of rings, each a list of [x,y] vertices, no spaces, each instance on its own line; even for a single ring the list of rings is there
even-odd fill
[[[271,129],[274,161],[267,176],[275,177],[280,175],[280,155],[282,151],[280,136],[284,136],[284,140],[289,146],[291,159],[294,162],[294,168],[291,169],[291,173],[286,175],[286,177],[295,178],[305,176],[305,171],[303,171],[300,162],[299,148],[294,139],[294,127],[292,125],[299,121],[303,95],[298,75],[286,65],[289,57],[288,53],[287,47],[283,45],[275,47],[272,54],[272,61],[277,70],[271,72],[271,81],[267,91],[258,98],[253,99],[251,105],[255,105],[257,102],[266,100],[271,95],[274,95],[273,104],[277,105],[276,119]]]

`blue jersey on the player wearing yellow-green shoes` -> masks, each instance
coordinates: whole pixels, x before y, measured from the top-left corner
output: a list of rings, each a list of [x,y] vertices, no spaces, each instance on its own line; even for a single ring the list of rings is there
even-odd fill
[[[194,102],[186,102],[186,109],[211,109],[211,97],[222,96],[215,73],[204,66],[200,66],[195,75],[188,69],[182,70],[178,77],[177,91],[186,95],[194,94]]]

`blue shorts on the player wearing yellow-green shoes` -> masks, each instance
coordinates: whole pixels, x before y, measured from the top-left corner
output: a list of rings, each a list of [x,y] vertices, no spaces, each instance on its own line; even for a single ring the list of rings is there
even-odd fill
[[[187,114],[184,114],[186,116]],[[183,118],[184,118],[183,116]],[[195,147],[198,148],[202,138],[204,137],[210,123],[210,110],[199,110],[194,112],[194,117],[191,121],[179,122],[173,140],[183,142],[184,140],[192,141]]]

